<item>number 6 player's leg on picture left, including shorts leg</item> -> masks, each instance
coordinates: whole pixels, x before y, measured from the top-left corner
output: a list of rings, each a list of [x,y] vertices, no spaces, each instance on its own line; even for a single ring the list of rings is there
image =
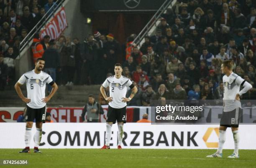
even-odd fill
[[[20,151],[20,153],[30,153],[30,140],[31,140],[31,134],[32,134],[32,126],[33,126],[33,120],[35,119],[35,113],[34,109],[27,106],[26,110],[26,130],[25,130],[25,148]]]

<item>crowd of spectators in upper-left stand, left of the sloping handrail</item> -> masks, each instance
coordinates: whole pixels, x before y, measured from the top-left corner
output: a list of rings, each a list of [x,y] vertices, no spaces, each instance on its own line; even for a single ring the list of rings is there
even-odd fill
[[[14,79],[19,44],[54,0],[0,0],[0,90]]]

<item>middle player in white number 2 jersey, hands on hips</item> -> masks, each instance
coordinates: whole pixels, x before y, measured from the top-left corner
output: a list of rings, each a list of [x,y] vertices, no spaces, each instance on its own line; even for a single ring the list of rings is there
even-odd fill
[[[122,149],[123,124],[126,123],[126,102],[130,101],[137,93],[137,88],[132,81],[122,75],[122,65],[115,64],[115,75],[108,77],[100,87],[100,92],[108,103],[105,145],[101,149],[110,149],[111,127],[118,121],[118,149]],[[110,97],[105,93],[104,88],[109,86]],[[129,98],[125,98],[127,87],[132,90]]]

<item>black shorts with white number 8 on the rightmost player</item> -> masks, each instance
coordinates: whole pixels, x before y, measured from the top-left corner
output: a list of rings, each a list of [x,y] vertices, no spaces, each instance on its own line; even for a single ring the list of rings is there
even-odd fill
[[[241,108],[236,108],[229,112],[223,112],[220,119],[220,126],[238,127],[240,123],[241,113]]]

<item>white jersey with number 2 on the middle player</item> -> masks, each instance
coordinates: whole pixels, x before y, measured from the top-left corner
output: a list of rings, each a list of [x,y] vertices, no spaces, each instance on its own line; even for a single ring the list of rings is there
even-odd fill
[[[109,86],[110,97],[113,97],[113,101],[108,105],[112,108],[125,107],[126,102],[122,102],[122,98],[125,98],[127,87],[131,86],[131,84],[132,81],[123,75],[119,79],[115,78],[115,75],[108,77],[102,84],[104,88]]]

